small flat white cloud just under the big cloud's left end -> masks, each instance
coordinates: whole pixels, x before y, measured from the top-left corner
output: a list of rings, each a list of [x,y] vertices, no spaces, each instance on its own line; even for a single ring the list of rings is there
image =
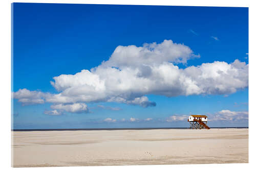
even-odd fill
[[[72,113],[79,113],[79,112],[88,112],[88,107],[84,103],[74,103],[74,104],[57,104],[57,105],[51,105],[52,109],[57,109],[57,110],[65,110],[67,112],[72,112]]]

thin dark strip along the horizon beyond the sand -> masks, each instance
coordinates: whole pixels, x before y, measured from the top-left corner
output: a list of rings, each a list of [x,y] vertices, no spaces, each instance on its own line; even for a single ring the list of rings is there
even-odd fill
[[[244,129],[248,127],[211,127],[211,129]],[[154,130],[154,129],[189,129],[189,128],[93,128],[93,129],[12,129],[11,131],[95,131],[95,130]]]

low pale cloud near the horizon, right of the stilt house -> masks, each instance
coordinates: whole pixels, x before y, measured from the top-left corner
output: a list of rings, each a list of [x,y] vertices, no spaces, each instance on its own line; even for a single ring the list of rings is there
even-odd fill
[[[243,121],[248,120],[247,111],[230,111],[230,110],[221,110],[211,117],[209,121]]]

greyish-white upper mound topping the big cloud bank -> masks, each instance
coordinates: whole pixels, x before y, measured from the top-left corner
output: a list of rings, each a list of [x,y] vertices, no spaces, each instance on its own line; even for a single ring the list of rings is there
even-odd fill
[[[164,40],[162,43],[144,43],[143,46],[117,46],[108,61],[101,66],[140,67],[141,65],[158,65],[163,62],[186,63],[188,59],[200,57],[186,45]]]

